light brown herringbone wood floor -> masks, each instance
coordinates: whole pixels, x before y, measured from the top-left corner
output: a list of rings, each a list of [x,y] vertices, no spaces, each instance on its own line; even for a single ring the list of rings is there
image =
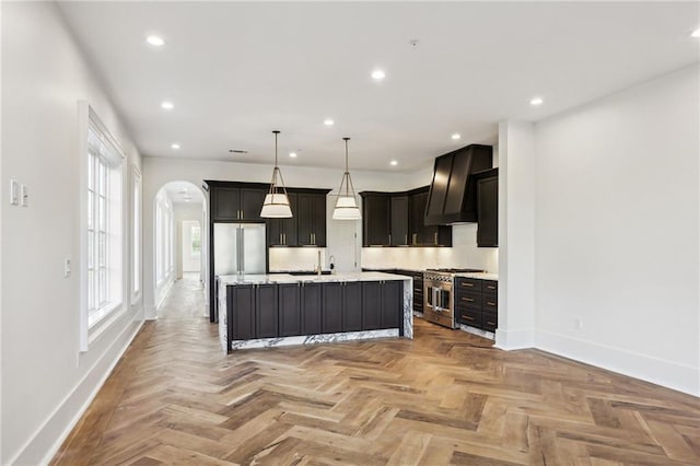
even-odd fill
[[[700,400],[418,321],[223,356],[177,282],[52,464],[700,464]]]

